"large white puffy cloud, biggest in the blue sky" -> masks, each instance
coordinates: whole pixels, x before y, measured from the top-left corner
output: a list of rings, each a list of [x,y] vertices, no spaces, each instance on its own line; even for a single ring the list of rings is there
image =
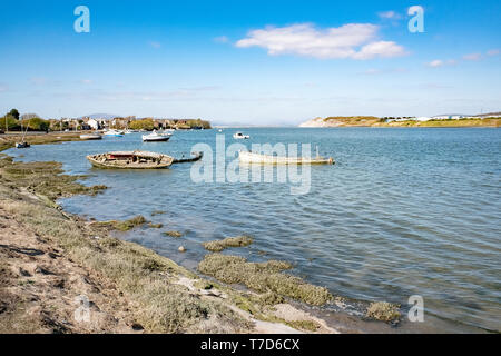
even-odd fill
[[[311,23],[289,27],[266,27],[254,30],[236,47],[262,47],[268,55],[298,55],[321,59],[397,57],[405,55],[393,41],[376,41],[379,27],[371,23],[348,23],[338,28],[316,29]],[[362,48],[360,48],[362,46]]]

